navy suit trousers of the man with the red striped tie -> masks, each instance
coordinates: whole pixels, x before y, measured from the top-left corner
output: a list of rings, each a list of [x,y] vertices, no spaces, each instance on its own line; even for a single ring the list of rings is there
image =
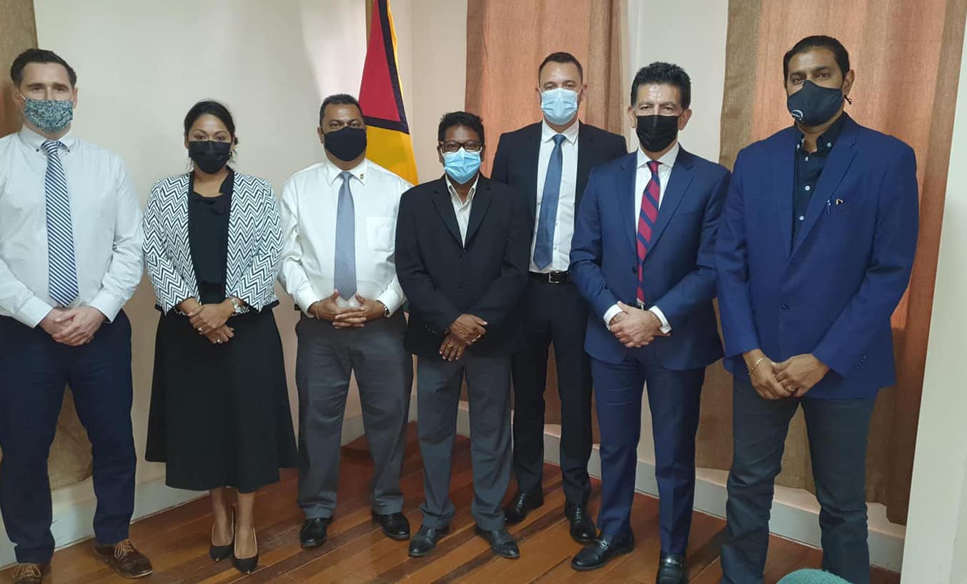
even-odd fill
[[[661,551],[685,553],[695,499],[695,431],[704,369],[673,371],[649,348],[631,349],[617,365],[592,361],[601,427],[601,512],[605,535],[630,532],[641,437],[641,398],[648,387],[659,485]]]

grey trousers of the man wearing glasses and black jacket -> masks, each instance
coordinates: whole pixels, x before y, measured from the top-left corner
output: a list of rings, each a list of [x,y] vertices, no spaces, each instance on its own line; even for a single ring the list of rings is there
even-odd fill
[[[424,525],[450,524],[451,459],[463,376],[470,401],[470,456],[474,501],[482,529],[504,528],[500,502],[511,481],[511,357],[465,354],[459,361],[417,359],[417,428],[424,459]]]

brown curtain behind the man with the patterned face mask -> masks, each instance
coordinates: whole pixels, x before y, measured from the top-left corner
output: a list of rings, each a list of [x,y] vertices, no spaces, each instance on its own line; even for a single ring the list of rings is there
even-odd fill
[[[37,46],[33,0],[0,0],[0,136],[20,129],[20,111],[7,71],[14,58],[26,48]],[[70,55],[65,56],[70,61]],[[77,421],[71,392],[65,394],[57,435],[50,449],[50,487],[64,487],[91,476],[91,445]]]

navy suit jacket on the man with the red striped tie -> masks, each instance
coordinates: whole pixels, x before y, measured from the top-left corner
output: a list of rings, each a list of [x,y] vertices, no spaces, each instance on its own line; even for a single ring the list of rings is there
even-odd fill
[[[604,324],[619,300],[634,306],[638,269],[645,297],[672,326],[655,339],[661,365],[672,370],[706,367],[722,356],[715,308],[715,240],[729,172],[682,149],[659,206],[652,245],[638,265],[634,179],[637,152],[595,167],[578,211],[571,244],[571,277],[597,318],[588,321],[585,349],[620,363],[625,348]]]

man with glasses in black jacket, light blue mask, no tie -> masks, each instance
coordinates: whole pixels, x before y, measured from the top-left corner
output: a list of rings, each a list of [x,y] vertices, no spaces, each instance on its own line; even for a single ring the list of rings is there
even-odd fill
[[[440,121],[446,174],[403,194],[396,273],[410,301],[406,348],[417,355],[417,423],[425,502],[410,555],[425,556],[447,532],[451,455],[464,375],[470,401],[477,533],[494,553],[520,555],[501,499],[511,480],[511,355],[523,329],[513,318],[527,286],[531,225],[511,189],[480,174],[484,125],[454,112]]]

